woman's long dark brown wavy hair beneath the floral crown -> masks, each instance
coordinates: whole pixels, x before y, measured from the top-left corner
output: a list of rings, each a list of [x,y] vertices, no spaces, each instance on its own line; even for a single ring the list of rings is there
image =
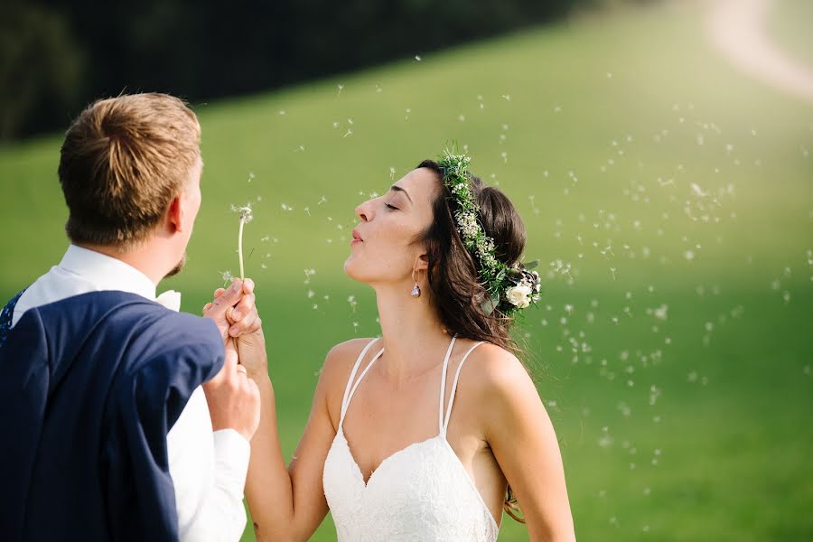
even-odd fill
[[[433,160],[425,160],[417,167],[434,171],[441,183],[441,192],[432,204],[434,220],[420,238],[429,260],[426,275],[430,299],[440,321],[448,332],[472,341],[491,342],[519,357],[522,352],[510,335],[513,318],[499,309],[491,314],[481,309],[481,303],[489,294],[480,283],[479,262],[465,248],[455,226],[457,203],[443,182],[443,168]],[[518,263],[525,249],[525,225],[508,196],[486,186],[474,175],[470,175],[470,189],[480,207],[477,218],[482,229],[494,240],[495,256],[509,266]],[[519,506],[510,486],[503,509],[511,518],[525,522],[519,516]]]

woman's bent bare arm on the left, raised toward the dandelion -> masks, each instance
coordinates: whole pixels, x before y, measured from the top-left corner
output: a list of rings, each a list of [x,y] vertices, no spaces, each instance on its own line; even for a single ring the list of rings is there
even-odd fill
[[[245,335],[239,343],[240,360],[257,381],[262,410],[260,426],[251,439],[246,498],[257,541],[307,540],[328,512],[322,488],[324,460],[336,431],[329,412],[333,384],[343,378],[348,343],[327,355],[313,394],[313,405],[294,459],[285,467],[276,425],[274,387],[268,377],[262,331]]]

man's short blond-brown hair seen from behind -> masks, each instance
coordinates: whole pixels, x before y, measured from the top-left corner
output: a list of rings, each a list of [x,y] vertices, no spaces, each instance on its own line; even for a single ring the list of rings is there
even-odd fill
[[[71,241],[130,248],[158,226],[200,160],[201,126],[179,98],[101,99],[77,117],[59,177]]]

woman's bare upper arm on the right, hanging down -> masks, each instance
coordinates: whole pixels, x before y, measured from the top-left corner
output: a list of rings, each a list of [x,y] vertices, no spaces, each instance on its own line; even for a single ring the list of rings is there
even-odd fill
[[[476,378],[486,440],[517,497],[528,537],[573,542],[562,455],[537,388],[516,357],[493,345],[481,348]]]

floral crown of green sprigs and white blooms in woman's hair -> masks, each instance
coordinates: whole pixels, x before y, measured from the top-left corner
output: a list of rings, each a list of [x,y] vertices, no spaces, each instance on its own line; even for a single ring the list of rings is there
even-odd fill
[[[475,263],[480,262],[478,273],[481,284],[490,294],[481,304],[482,311],[491,314],[499,308],[501,313],[510,315],[532,303],[536,304],[541,295],[541,281],[539,274],[532,269],[539,261],[508,266],[496,257],[494,239],[486,235],[477,219],[480,206],[474,200],[470,186],[472,174],[468,171],[472,158],[454,151],[454,148],[445,149],[438,159],[438,165],[443,170],[444,185],[457,203],[453,212],[457,231],[463,238],[463,245],[475,258]]]

